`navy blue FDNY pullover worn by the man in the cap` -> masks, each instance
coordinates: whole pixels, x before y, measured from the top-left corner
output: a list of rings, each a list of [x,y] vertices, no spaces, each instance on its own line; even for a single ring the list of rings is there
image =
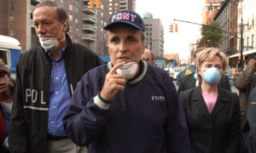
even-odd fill
[[[142,74],[127,82],[106,110],[95,101],[110,63],[82,77],[64,117],[64,128],[74,143],[89,144],[90,153],[190,152],[172,79],[155,65],[143,66]]]

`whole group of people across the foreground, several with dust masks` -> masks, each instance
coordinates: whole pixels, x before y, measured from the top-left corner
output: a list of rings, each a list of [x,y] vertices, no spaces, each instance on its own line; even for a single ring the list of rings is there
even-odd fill
[[[15,79],[0,60],[0,152],[256,152],[256,56],[234,75],[239,94],[220,48],[197,49],[176,88],[154,65],[136,12],[117,11],[103,28],[106,64],[72,41],[67,18],[38,3],[38,46],[20,55]]]

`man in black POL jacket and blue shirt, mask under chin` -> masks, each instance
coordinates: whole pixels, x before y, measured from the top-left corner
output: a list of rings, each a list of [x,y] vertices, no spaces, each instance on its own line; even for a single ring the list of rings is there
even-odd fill
[[[20,55],[9,129],[9,148],[19,153],[84,152],[67,138],[62,119],[80,78],[101,65],[89,48],[72,42],[64,8],[42,2],[32,21],[40,46]]]

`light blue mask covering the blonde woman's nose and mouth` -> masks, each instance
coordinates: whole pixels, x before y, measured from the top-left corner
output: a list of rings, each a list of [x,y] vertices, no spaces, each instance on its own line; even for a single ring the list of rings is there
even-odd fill
[[[220,77],[220,72],[216,67],[208,68],[203,74],[203,79],[208,84],[218,84]]]

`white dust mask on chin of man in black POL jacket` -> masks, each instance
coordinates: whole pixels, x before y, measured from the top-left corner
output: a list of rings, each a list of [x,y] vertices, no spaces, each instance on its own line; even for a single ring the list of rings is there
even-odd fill
[[[60,41],[55,37],[39,37],[39,42],[48,51],[55,51],[60,45]]]

